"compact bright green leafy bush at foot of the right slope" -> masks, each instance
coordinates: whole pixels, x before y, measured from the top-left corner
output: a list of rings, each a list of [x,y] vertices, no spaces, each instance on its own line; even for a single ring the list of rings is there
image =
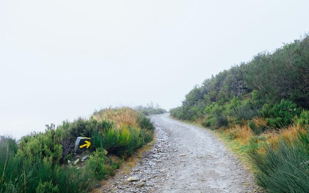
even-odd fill
[[[274,105],[265,104],[261,115],[266,118],[267,124],[272,128],[282,128],[290,125],[295,116],[300,115],[301,109],[292,101],[282,99]]]

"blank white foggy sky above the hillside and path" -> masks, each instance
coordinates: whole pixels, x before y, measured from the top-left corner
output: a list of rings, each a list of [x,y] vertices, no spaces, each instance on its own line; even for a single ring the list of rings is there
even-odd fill
[[[119,105],[181,105],[205,78],[309,32],[308,0],[0,0],[0,135]]]

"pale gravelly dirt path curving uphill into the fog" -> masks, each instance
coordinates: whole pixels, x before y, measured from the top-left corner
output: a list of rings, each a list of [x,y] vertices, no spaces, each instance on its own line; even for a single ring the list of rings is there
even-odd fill
[[[151,119],[156,125],[154,148],[143,154],[129,175],[116,175],[109,180],[112,187],[101,192],[255,192],[253,176],[210,131],[171,119],[169,114]],[[129,177],[139,181],[128,182]]]

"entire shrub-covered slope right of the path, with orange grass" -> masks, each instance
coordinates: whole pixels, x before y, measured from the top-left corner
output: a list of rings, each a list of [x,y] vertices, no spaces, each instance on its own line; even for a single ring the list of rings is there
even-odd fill
[[[308,35],[206,79],[170,113],[236,144],[268,192],[308,192]]]

